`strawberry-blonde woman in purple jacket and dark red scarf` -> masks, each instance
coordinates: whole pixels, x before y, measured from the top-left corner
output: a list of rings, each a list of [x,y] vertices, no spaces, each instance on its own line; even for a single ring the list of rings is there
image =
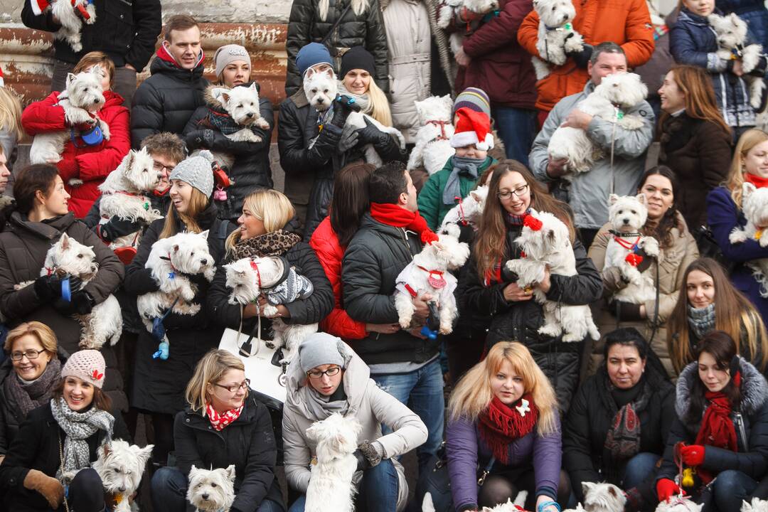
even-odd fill
[[[558,401],[528,348],[498,342],[458,382],[445,428],[455,510],[495,507],[528,491],[525,510],[556,512],[571,494],[561,471]],[[478,468],[485,475],[478,488]]]

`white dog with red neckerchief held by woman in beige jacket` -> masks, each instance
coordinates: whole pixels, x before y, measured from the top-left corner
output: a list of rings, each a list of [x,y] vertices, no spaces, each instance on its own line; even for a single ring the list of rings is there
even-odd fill
[[[605,267],[617,266],[624,279],[629,281],[624,289],[614,293],[613,299],[643,304],[654,299],[656,286],[650,277],[642,276],[637,270],[641,256],[635,252],[644,249],[648,256],[659,255],[657,239],[640,234],[648,218],[647,197],[644,193],[637,196],[617,196],[612,193],[608,202],[608,220],[613,230],[605,248]]]

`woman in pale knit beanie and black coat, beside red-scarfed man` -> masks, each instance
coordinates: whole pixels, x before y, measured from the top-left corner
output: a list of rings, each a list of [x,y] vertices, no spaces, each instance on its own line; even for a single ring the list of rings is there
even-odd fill
[[[227,176],[233,181],[226,190],[217,187],[214,195],[219,209],[220,219],[237,220],[243,210],[243,199],[260,188],[272,188],[272,170],[270,170],[270,140],[274,127],[272,102],[263,96],[259,97],[259,112],[269,124],[268,129],[256,126],[250,127],[253,134],[261,137],[261,142],[230,140],[226,134],[239,130],[232,116],[222,107],[215,92],[217,89],[250,88],[251,81],[250,55],[240,45],[224,45],[214,54],[216,65],[215,84],[205,91],[206,104],[197,107],[192,117],[184,127],[184,140],[187,149],[207,149],[219,153],[230,154],[234,157],[232,168],[225,168]],[[259,84],[256,84],[260,91]],[[245,91],[246,89],[242,89]]]

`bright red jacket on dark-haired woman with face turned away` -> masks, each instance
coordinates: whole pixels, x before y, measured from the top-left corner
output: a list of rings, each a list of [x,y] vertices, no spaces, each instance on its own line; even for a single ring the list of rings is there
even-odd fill
[[[333,288],[333,311],[322,322],[320,328],[330,335],[346,339],[363,339],[366,337],[366,324],[349,318],[341,306],[341,260],[346,247],[339,245],[339,238],[331,227],[330,217],[323,219],[312,233],[310,246],[315,250],[320,265],[326,271],[326,276]]]

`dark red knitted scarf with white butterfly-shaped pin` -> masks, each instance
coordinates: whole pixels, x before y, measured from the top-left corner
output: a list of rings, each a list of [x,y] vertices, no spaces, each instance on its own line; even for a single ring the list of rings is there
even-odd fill
[[[521,411],[523,400],[528,401],[529,411]],[[523,395],[511,407],[494,397],[488,405],[488,410],[478,417],[478,431],[485,445],[491,448],[496,460],[508,464],[509,444],[530,434],[536,426],[536,421],[538,408],[530,394]]]

